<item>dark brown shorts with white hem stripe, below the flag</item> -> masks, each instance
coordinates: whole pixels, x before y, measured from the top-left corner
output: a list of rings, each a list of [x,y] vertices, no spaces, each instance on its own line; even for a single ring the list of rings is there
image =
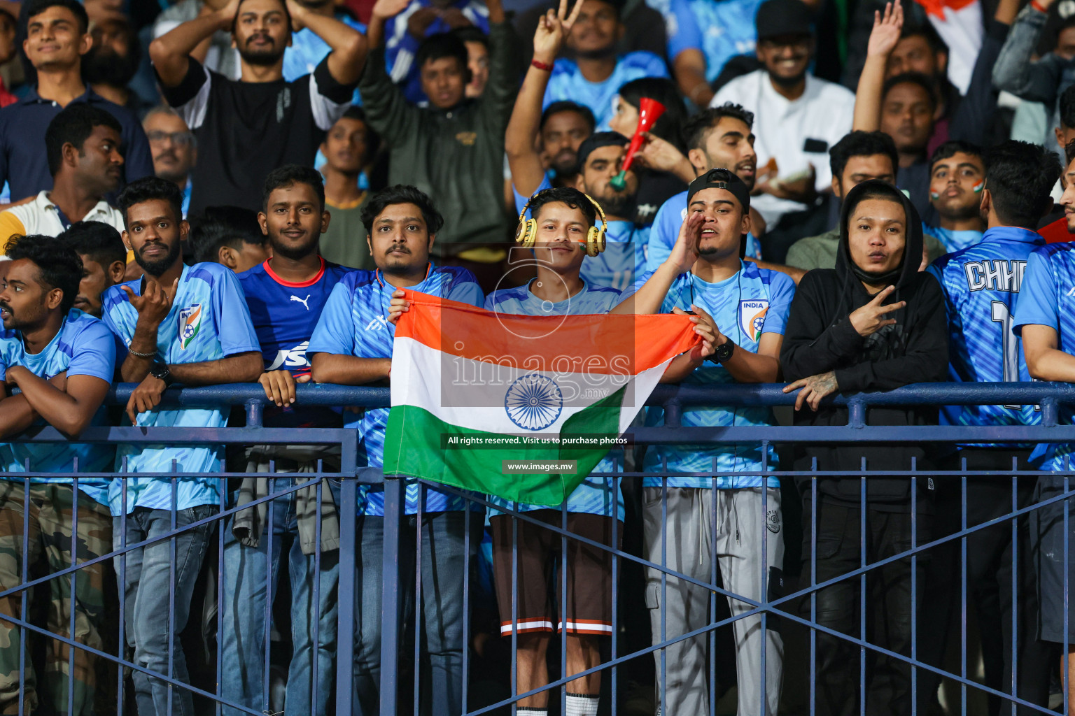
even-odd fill
[[[527,516],[560,526],[559,510],[534,510]],[[512,634],[512,516],[489,517],[492,528],[492,568],[500,607],[500,633]],[[622,535],[617,525],[616,541]],[[568,513],[568,531],[601,544],[612,544],[613,517],[580,512]],[[516,549],[516,607],[518,633],[557,631],[564,628],[557,620],[563,595],[559,588],[562,576],[557,557],[561,536],[545,527],[519,520]],[[618,545],[617,545],[618,546]],[[568,538],[568,611],[570,633],[611,635],[613,554],[578,540]],[[554,574],[555,571],[555,574]],[[554,588],[555,586],[555,588]]]

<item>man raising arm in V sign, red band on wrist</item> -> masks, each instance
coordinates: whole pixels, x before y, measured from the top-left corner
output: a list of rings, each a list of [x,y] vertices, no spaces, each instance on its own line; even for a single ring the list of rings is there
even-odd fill
[[[582,9],[583,3],[576,2],[569,16],[564,1],[558,12],[549,10],[543,15],[534,31],[534,62],[522,79],[504,134],[510,181],[517,198],[516,210],[519,210],[519,199],[525,202],[542,189],[574,187],[578,147],[593,133],[596,120],[589,107],[561,100],[542,111],[542,98],[549,79],[549,72],[542,68],[556,60],[563,38],[570,34]],[[535,148],[535,135],[540,148]]]

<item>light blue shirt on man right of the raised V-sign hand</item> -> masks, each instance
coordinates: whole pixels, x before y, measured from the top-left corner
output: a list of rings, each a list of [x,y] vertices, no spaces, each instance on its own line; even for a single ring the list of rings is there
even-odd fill
[[[597,131],[604,132],[616,113],[615,102],[620,87],[640,77],[668,76],[664,60],[645,50],[621,55],[616,61],[616,69],[604,82],[590,82],[583,76],[574,60],[561,57],[553,64],[542,108],[563,100],[577,102],[590,108],[597,120]]]

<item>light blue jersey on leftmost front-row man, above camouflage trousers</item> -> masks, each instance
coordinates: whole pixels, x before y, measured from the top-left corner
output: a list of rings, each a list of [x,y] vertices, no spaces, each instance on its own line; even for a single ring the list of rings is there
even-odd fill
[[[67,371],[68,379],[92,376],[112,384],[116,371],[116,339],[104,323],[77,308],[68,311],[60,330],[40,353],[27,353],[18,332],[0,326],[0,381],[6,377],[8,368],[16,365],[29,368],[34,376],[45,380]],[[108,425],[103,406],[90,424]],[[80,472],[110,472],[115,454],[113,445],[104,444],[4,442],[0,443],[0,470],[23,472],[29,461],[33,471],[71,472],[77,459]],[[22,481],[16,476],[0,479]],[[70,484],[71,478],[38,477],[31,478],[31,482]],[[108,505],[109,482],[101,478],[81,478],[78,488],[101,505]]]

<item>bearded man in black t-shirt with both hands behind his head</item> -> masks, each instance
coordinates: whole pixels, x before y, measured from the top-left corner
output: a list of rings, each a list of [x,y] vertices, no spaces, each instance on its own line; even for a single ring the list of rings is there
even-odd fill
[[[284,49],[297,27],[332,48],[313,73],[283,75]],[[230,29],[242,76],[229,79],[191,57],[215,31]],[[209,205],[258,210],[256,181],[283,164],[313,165],[325,132],[350,102],[366,62],[366,38],[296,0],[230,0],[149,45],[164,99],[198,140],[191,215]]]

